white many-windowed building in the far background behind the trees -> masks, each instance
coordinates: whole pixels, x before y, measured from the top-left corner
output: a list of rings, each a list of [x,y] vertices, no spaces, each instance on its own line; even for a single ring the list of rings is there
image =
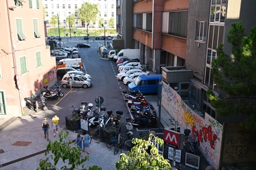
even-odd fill
[[[44,9],[46,11],[46,16],[44,20],[46,21],[47,27],[53,27],[50,24],[51,17],[55,15],[59,15],[59,27],[69,27],[67,18],[74,14],[75,23],[72,25],[73,27],[85,27],[85,23],[83,23],[79,17],[77,16],[76,10],[81,8],[84,2],[89,2],[92,4],[98,4],[98,9],[100,10],[98,17],[96,18],[96,22],[89,23],[89,28],[98,28],[98,21],[102,18],[104,21],[105,27],[109,26],[109,20],[116,16],[116,6],[115,0],[42,0],[44,5]]]

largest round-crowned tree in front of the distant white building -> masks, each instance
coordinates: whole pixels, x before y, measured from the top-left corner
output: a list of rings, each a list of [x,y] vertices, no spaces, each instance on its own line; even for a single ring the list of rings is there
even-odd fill
[[[89,2],[84,2],[78,10],[76,10],[79,18],[82,22],[95,22],[97,19],[97,14],[100,12],[98,10],[98,4],[91,4]]]

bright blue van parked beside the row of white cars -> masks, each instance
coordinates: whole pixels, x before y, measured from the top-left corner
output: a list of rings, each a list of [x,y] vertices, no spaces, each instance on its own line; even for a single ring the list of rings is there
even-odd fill
[[[133,82],[128,86],[129,92],[142,92],[143,94],[157,93],[158,92],[158,82],[161,80],[162,75],[140,75],[134,78]]]

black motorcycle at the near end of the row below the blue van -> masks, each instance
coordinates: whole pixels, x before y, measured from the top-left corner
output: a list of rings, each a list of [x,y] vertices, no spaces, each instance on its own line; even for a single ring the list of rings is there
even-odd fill
[[[132,124],[134,126],[153,126],[158,127],[158,117],[155,114],[147,112],[137,112],[134,115]]]

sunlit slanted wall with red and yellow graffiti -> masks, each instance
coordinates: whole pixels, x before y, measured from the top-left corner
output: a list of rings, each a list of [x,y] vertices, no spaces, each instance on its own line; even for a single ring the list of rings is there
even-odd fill
[[[219,169],[223,125],[210,115],[191,109],[170,86],[162,82],[162,107],[184,129],[190,129],[197,137],[201,154],[215,169]]]

